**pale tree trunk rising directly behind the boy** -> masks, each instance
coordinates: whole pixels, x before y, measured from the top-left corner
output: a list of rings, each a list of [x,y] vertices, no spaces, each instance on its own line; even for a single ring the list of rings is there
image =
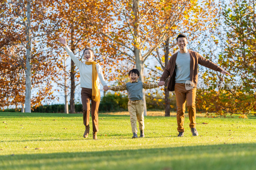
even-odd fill
[[[134,56],[136,59],[136,68],[140,70],[140,78],[139,80],[144,82],[144,62],[142,60],[142,56],[140,53],[140,35],[138,34],[138,26],[139,26],[139,0],[133,0],[133,6],[132,11],[134,13],[135,19],[133,23],[133,30],[134,30],[134,36],[136,38],[136,41],[134,42]],[[143,93],[143,103],[144,103],[144,116],[147,116],[147,105],[146,105],[146,97],[145,97],[145,90],[142,90]]]

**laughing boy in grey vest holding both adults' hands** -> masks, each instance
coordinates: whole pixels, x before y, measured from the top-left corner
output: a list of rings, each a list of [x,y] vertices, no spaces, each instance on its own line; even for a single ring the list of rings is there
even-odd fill
[[[136,117],[139,123],[140,138],[144,138],[144,104],[142,101],[142,89],[153,89],[158,87],[158,84],[146,84],[138,81],[140,77],[140,71],[138,69],[132,69],[128,73],[130,82],[127,82],[121,86],[108,87],[109,90],[128,92],[128,111],[130,114],[131,126],[132,126],[132,138],[138,138],[137,136],[137,124]]]

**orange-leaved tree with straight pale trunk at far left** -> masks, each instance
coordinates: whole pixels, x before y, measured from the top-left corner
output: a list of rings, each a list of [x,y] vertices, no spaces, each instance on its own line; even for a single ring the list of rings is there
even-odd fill
[[[24,77],[23,81],[19,82],[25,87],[25,112],[31,112],[31,103],[38,105],[46,96],[52,94],[50,79],[47,78],[47,75],[52,73],[51,60],[49,60],[51,56],[49,47],[44,42],[45,36],[51,34],[58,26],[58,21],[54,20],[56,18],[54,5],[52,1],[44,0],[32,2],[4,0],[1,3],[0,15],[3,28],[0,35],[0,52],[5,57],[2,62],[9,63],[16,69],[22,68],[17,76],[25,75],[25,84],[22,84]],[[15,63],[11,64],[11,62]],[[2,84],[2,86],[10,86],[10,84]],[[31,89],[38,90],[37,93],[34,91],[36,95],[32,99]],[[14,88],[14,90],[18,89]],[[23,93],[22,90],[19,92],[21,98]],[[13,95],[10,98],[13,98]],[[10,98],[7,96],[6,100],[11,100]]]

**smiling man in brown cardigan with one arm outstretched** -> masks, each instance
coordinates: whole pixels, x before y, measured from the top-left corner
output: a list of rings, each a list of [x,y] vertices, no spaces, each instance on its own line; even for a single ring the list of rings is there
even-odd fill
[[[179,34],[177,44],[180,51],[173,54],[164,69],[164,73],[158,82],[159,86],[164,85],[164,81],[170,76],[167,90],[175,91],[177,103],[177,124],[178,137],[183,137],[184,134],[184,113],[185,102],[187,101],[189,127],[193,136],[198,136],[196,130],[196,85],[198,81],[197,66],[198,64],[219,71],[222,74],[228,74],[212,61],[205,59],[199,53],[187,49],[187,36]]]

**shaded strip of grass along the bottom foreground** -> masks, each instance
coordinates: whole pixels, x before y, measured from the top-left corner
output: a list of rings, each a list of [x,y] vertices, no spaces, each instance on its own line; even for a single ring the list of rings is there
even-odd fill
[[[256,144],[58,152],[0,156],[0,169],[232,169],[256,166]],[[4,162],[8,162],[5,163]],[[11,162],[11,163],[10,163]]]

